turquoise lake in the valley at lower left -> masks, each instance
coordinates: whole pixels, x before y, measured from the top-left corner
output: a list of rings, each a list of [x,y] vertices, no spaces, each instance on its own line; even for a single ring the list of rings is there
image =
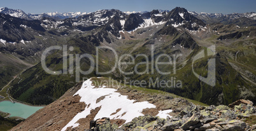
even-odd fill
[[[43,106],[29,106],[17,102],[13,104],[10,101],[0,102],[0,111],[10,113],[11,116],[18,116],[25,119],[31,116],[31,114],[36,113],[36,111],[41,108],[43,108]]]

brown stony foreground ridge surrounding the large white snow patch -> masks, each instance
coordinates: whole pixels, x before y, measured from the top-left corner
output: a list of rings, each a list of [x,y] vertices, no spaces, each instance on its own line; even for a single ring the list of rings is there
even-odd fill
[[[142,116],[135,117],[131,121],[108,118],[120,111],[117,109],[110,116],[104,114],[106,118],[97,119],[96,115],[102,107],[99,106],[91,109],[89,115],[76,121],[77,127],[64,128],[78,113],[88,110],[90,104],[106,99],[106,97],[99,97],[95,101],[92,100],[90,104],[82,102],[80,100],[82,96],[75,95],[82,88],[81,86],[82,83],[78,83],[60,99],[32,114],[11,130],[256,130],[256,107],[250,100],[237,100],[229,106],[198,106],[171,93],[160,91],[150,93],[153,90],[148,92],[145,88],[139,87],[117,87],[116,92],[126,95],[127,99],[134,100],[134,103],[147,101],[155,106],[143,109]],[[113,86],[106,86],[106,88],[113,88]],[[113,101],[108,105],[111,104]],[[168,111],[167,114],[172,117],[160,118],[157,114],[161,111]]]

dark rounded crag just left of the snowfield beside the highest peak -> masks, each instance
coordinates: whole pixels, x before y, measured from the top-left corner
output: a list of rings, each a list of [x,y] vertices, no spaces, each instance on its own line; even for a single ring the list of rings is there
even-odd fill
[[[124,24],[124,29],[125,31],[131,31],[133,29],[136,29],[139,26],[139,24],[143,22],[144,20],[137,13],[132,13],[127,17],[127,20]]]

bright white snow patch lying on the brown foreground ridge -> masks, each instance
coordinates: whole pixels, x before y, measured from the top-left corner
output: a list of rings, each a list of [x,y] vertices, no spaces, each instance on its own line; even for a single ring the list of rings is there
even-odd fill
[[[75,95],[80,95],[80,102],[85,102],[85,104],[90,106],[85,107],[84,111],[76,114],[73,120],[69,121],[69,123],[62,128],[62,130],[66,130],[66,128],[71,126],[73,126],[73,128],[78,127],[79,123],[76,123],[76,121],[80,120],[81,118],[86,118],[86,116],[90,114],[90,110],[96,109],[96,107],[101,107],[101,109],[96,114],[94,120],[108,117],[110,119],[125,120],[125,123],[132,121],[132,119],[135,117],[143,116],[144,114],[141,113],[143,109],[156,107],[155,105],[146,101],[134,102],[135,100],[128,99],[127,95],[121,95],[116,91],[117,90],[114,88],[94,88],[94,86],[92,86],[91,79],[87,79],[87,81],[83,83],[82,87],[80,90],[78,90],[78,92],[75,93]],[[103,96],[104,99],[96,103],[96,100]],[[117,109],[121,110],[116,114],[113,114],[117,111]],[[171,110],[160,111],[159,116],[166,118],[169,116],[167,114],[168,111],[171,112]]]

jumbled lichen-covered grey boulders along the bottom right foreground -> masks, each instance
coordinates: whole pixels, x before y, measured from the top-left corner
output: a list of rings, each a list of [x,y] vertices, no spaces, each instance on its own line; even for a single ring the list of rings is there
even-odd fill
[[[90,121],[90,130],[256,130],[256,125],[243,121],[249,116],[255,117],[255,107],[249,100],[238,100],[229,106],[203,107],[192,104],[172,118],[146,114],[120,128],[115,123],[111,124],[109,118]]]

